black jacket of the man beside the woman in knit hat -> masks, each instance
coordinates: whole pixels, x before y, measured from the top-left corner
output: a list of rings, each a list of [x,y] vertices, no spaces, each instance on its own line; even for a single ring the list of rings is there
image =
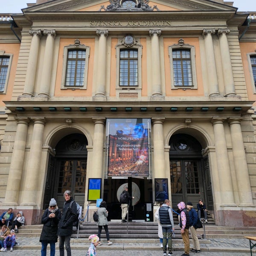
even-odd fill
[[[73,198],[70,198],[69,201],[64,203],[61,220],[58,224],[58,236],[69,236],[73,233],[73,222],[75,222],[78,218],[76,213],[76,202],[74,201],[72,204],[72,208],[70,209],[70,203],[74,201]]]

